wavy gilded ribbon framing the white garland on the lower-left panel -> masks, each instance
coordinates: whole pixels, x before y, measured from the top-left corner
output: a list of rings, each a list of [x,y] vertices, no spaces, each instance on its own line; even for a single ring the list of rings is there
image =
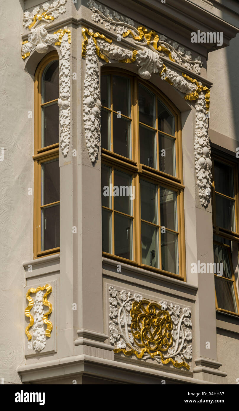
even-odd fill
[[[44,296],[43,296],[43,298],[42,298],[42,302],[43,302],[43,304],[44,304],[46,307],[49,308],[48,312],[46,312],[46,313],[44,314],[44,316],[43,316],[43,321],[44,321],[44,323],[47,325],[47,328],[46,328],[46,337],[51,337],[52,323],[51,323],[51,321],[48,320],[48,316],[49,316],[49,314],[51,314],[51,312],[52,312],[52,305],[51,305],[51,303],[47,300],[47,296],[51,293],[51,291],[52,291],[52,286],[49,285],[49,284],[45,284],[43,287],[39,286],[39,287],[37,287],[37,288],[30,288],[30,289],[28,290],[28,292],[26,293],[26,298],[27,298],[28,301],[29,301],[29,304],[28,304],[28,306],[27,306],[26,309],[25,309],[25,315],[26,315],[26,317],[29,317],[29,324],[28,324],[28,326],[26,327],[26,330],[25,330],[26,335],[27,335],[27,337],[28,337],[28,341],[32,338],[32,336],[30,335],[30,332],[29,332],[29,328],[31,328],[31,327],[33,326],[33,323],[34,323],[34,319],[33,319],[32,315],[31,315],[31,313],[30,313],[30,311],[31,311],[31,309],[32,309],[32,307],[33,307],[33,305],[34,305],[34,301],[33,301],[32,297],[30,296],[30,294],[35,294],[35,293],[37,293],[38,291],[43,291],[43,290],[46,290],[46,293],[44,294]]]

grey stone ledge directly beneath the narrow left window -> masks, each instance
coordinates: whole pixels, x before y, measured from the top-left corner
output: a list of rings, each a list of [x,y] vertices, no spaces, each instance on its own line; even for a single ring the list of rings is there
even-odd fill
[[[60,254],[24,261],[22,265],[25,269],[26,279],[50,274],[60,271]]]

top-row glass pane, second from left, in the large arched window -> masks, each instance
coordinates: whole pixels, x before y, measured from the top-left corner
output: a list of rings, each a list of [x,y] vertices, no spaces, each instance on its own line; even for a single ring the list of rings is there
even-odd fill
[[[126,77],[112,76],[113,110],[131,117],[130,80]]]

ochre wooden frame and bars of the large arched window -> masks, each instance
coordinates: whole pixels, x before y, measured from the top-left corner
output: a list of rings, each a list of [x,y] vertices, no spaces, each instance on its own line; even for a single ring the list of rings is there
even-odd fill
[[[181,113],[172,102],[167,99],[167,97],[160,91],[158,88],[154,87],[152,83],[144,81],[137,74],[127,72],[126,70],[107,67],[101,68],[101,75],[120,75],[130,78],[131,85],[131,152],[132,159],[128,159],[117,153],[111,152],[104,148],[101,148],[101,160],[102,164],[111,167],[117,167],[120,171],[125,171],[126,173],[132,174],[132,184],[135,185],[135,200],[132,200],[132,209],[134,214],[134,223],[133,223],[133,261],[124,259],[123,257],[116,256],[114,254],[109,254],[107,252],[102,252],[104,257],[111,258],[117,261],[122,261],[123,263],[129,263],[133,266],[138,266],[146,270],[151,270],[159,274],[167,275],[186,281],[186,249],[185,249],[185,228],[184,228],[184,200],[183,200],[183,166],[182,166],[182,136],[181,136]],[[149,91],[153,92],[155,95],[155,100],[157,98],[162,101],[170,113],[174,116],[174,139],[175,139],[175,163],[176,163],[176,175],[169,175],[162,171],[151,168],[140,163],[139,159],[139,112],[138,112],[138,102],[137,102],[137,84],[138,82],[146,87]],[[111,87],[111,108],[105,108],[108,111],[111,111],[111,117],[113,113],[112,106],[112,87]],[[113,135],[113,123],[111,118],[111,139]],[[158,119],[156,118],[156,127],[158,127]],[[150,126],[149,126],[150,128]],[[152,128],[152,127],[151,127]],[[156,130],[156,129],[154,129]],[[156,139],[158,140],[158,128]],[[161,132],[166,136],[173,136]],[[158,142],[157,142],[157,166],[159,167],[159,151],[158,151]],[[179,271],[178,274],[162,270],[160,268],[155,268],[147,266],[141,263],[142,261],[142,250],[141,250],[141,204],[140,204],[140,178],[148,180],[149,182],[161,185],[162,187],[168,188],[176,192],[176,207],[177,207],[177,230],[178,235],[178,256],[179,256]],[[160,216],[160,202],[158,202],[158,213]],[[170,231],[170,230],[169,230]],[[159,230],[161,233],[161,231]],[[111,233],[113,236],[113,232]],[[161,255],[161,243],[159,238],[159,248]],[[161,264],[161,261],[160,261]]]

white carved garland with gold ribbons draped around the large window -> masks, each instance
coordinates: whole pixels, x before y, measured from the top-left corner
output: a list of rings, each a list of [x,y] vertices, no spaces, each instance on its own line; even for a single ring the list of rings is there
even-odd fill
[[[128,32],[127,32],[128,33]],[[124,33],[125,36],[128,35]],[[111,39],[99,32],[82,28],[84,37],[82,42],[82,57],[86,58],[86,75],[84,81],[84,127],[86,145],[91,162],[97,159],[100,146],[100,90],[99,70],[95,54],[104,62],[117,60],[124,63],[136,63],[138,74],[143,79],[150,79],[152,73],[160,74],[161,78],[173,85],[174,88],[185,94],[184,99],[195,101],[196,128],[195,128],[195,170],[200,201],[207,207],[211,197],[211,150],[208,137],[207,111],[209,110],[210,90],[207,86],[187,74],[179,74],[168,67],[160,59],[157,43],[155,49],[142,47],[139,50],[130,50],[112,43]],[[144,30],[144,36],[150,36]],[[141,39],[138,39],[139,41]],[[160,46],[162,51],[162,46]],[[165,51],[172,57],[170,51]]]

